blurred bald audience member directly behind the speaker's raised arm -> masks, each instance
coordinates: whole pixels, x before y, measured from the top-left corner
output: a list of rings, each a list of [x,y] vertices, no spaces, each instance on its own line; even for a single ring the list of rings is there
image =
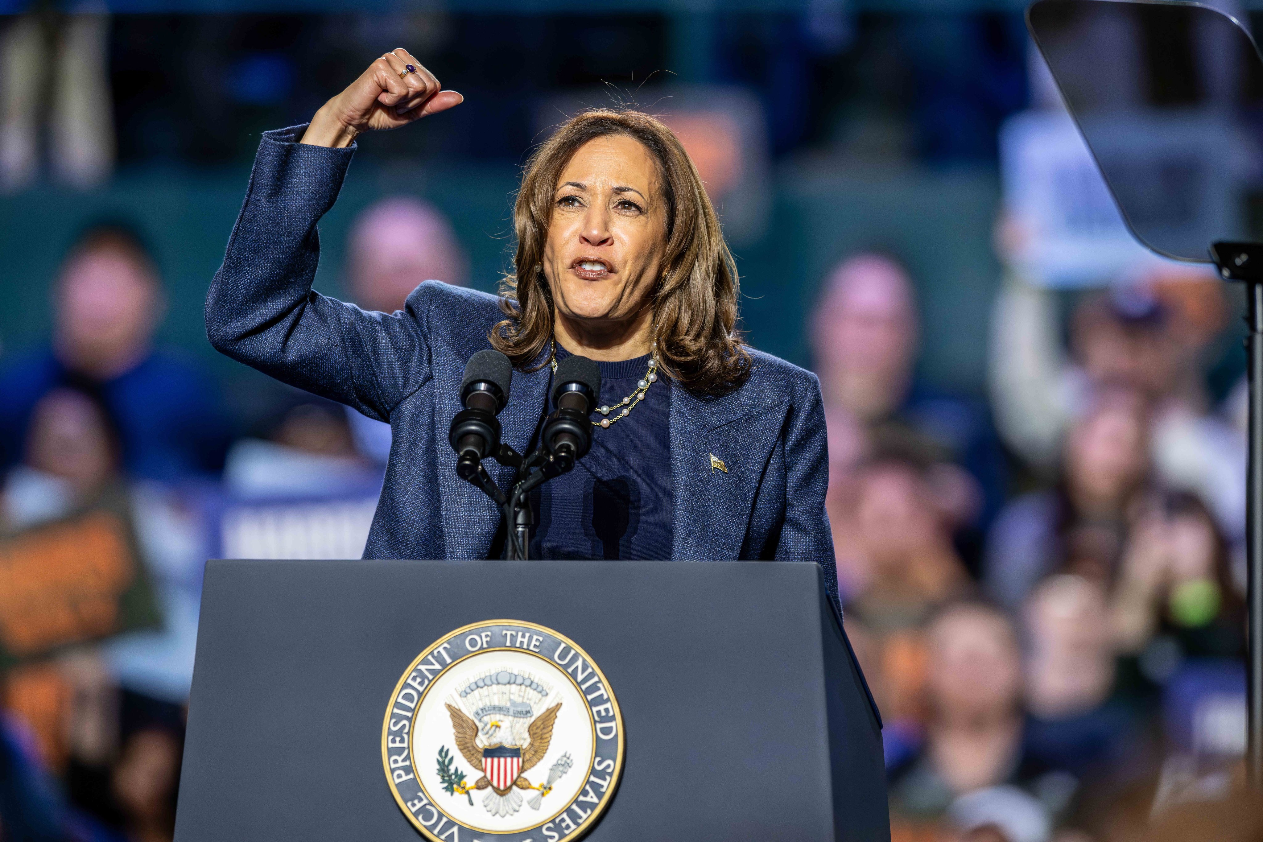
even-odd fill
[[[395,196],[360,212],[347,242],[346,278],[355,303],[393,313],[423,280],[464,287],[469,258],[443,212],[424,199]],[[359,451],[385,465],[390,425],[346,408]]]

